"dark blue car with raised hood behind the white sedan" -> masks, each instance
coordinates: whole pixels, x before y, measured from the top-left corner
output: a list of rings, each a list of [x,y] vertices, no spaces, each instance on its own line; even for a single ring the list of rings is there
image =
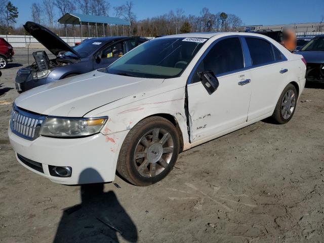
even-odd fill
[[[97,37],[87,39],[72,48],[42,25],[26,22],[24,28],[56,58],[49,59],[45,51],[34,52],[35,62],[17,72],[15,86],[19,93],[62,78],[107,67],[147,41],[146,38],[136,36]]]

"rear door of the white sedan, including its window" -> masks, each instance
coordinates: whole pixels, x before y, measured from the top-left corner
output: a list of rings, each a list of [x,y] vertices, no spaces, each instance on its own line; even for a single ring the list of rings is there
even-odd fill
[[[288,68],[286,57],[266,39],[251,36],[245,40],[252,61],[249,121],[273,112],[282,84],[292,70]]]

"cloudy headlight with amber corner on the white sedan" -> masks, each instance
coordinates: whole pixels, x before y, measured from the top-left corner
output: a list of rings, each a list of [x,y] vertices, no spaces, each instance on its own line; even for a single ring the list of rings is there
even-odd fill
[[[98,118],[46,117],[39,134],[58,138],[86,137],[99,133],[107,119],[107,116]]]

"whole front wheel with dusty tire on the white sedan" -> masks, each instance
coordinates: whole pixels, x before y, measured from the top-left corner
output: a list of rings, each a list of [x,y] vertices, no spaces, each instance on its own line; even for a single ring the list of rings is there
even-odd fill
[[[177,129],[169,120],[159,116],[145,118],[121,145],[117,172],[134,185],[152,185],[173,169],[179,149]]]

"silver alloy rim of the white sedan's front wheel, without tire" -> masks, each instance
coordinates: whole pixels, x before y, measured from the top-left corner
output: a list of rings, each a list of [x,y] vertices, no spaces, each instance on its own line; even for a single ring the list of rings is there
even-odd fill
[[[154,177],[163,172],[174,153],[174,141],[168,131],[155,128],[138,142],[134,153],[134,164],[144,177]]]

